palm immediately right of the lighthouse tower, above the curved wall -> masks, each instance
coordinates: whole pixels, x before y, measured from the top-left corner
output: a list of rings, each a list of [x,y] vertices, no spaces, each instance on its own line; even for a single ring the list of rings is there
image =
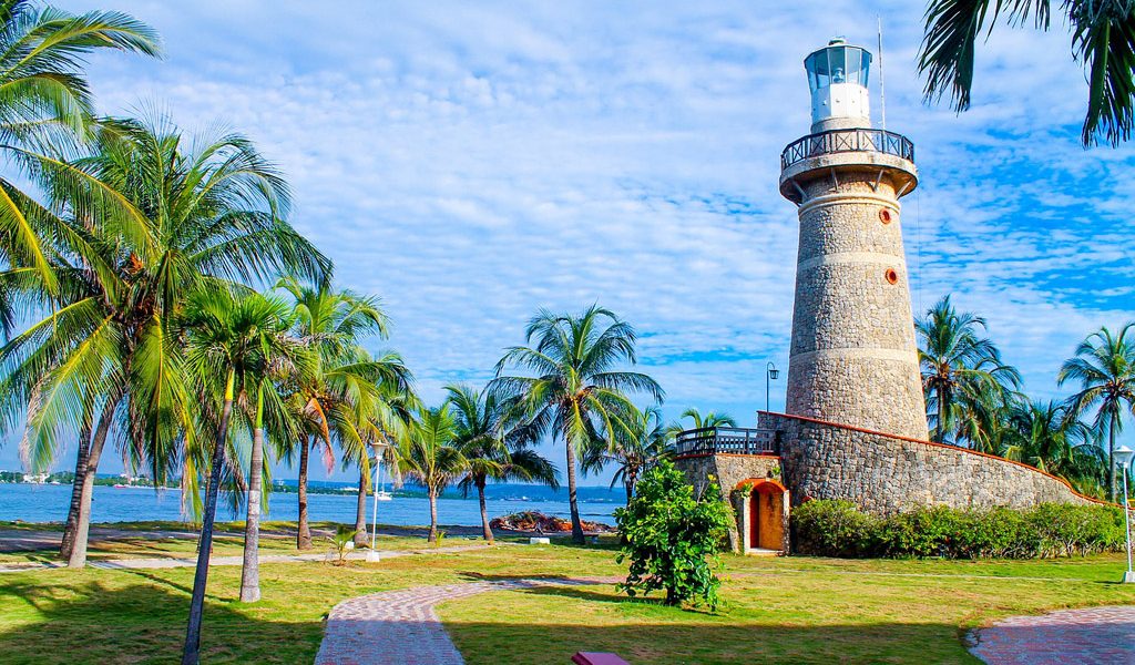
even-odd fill
[[[944,441],[951,426],[959,437],[967,426],[980,422],[974,414],[989,404],[1006,404],[1020,386],[1016,368],[1001,362],[1001,353],[987,337],[985,319],[958,312],[950,296],[942,297],[915,323],[918,332],[918,360],[922,365],[926,405],[935,410],[934,440]]]

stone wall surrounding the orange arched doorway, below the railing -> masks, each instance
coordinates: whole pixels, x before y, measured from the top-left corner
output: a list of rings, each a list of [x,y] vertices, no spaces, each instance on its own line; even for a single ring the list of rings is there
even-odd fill
[[[743,554],[750,548],[742,533],[748,532],[749,504],[748,497],[734,493],[739,485],[747,480],[775,479],[781,477],[781,458],[776,455],[698,455],[690,457],[679,457],[674,465],[686,473],[686,478],[693,486],[695,493],[700,495],[705,491],[706,483],[711,475],[717,479],[721,494],[733,507],[734,525],[729,532],[729,544],[733,552]],[[788,510],[790,496],[785,496],[783,532],[785,534],[782,550],[788,553]]]

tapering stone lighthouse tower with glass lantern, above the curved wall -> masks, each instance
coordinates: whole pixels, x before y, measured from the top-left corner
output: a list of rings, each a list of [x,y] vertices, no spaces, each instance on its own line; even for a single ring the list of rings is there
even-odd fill
[[[812,133],[781,155],[800,217],[787,411],[925,440],[899,207],[914,144],[872,128],[871,62],[841,39],[807,57]]]

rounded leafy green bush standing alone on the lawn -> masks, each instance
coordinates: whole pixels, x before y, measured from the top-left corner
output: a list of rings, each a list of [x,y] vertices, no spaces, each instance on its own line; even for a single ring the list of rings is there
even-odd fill
[[[666,605],[705,601],[716,609],[716,555],[733,520],[717,483],[695,497],[682,472],[659,462],[639,480],[627,507],[615,511],[615,520],[627,539],[617,561],[631,562],[620,591],[633,598],[665,589]]]

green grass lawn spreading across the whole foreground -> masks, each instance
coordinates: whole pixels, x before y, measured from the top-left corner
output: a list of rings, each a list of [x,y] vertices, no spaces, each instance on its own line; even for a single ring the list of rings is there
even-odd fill
[[[421,545],[422,541],[418,540]],[[446,545],[455,545],[449,541]],[[1033,562],[729,556],[716,614],[632,601],[611,586],[496,591],[439,614],[466,662],[568,663],[611,650],[632,663],[965,663],[962,637],[1011,614],[1135,604],[1119,556]],[[379,564],[266,564],[261,603],[236,600],[239,567],[211,572],[208,663],[311,663],[338,601],[485,578],[617,575],[609,547],[485,547]],[[5,663],[176,659],[192,569],[0,575]]]

